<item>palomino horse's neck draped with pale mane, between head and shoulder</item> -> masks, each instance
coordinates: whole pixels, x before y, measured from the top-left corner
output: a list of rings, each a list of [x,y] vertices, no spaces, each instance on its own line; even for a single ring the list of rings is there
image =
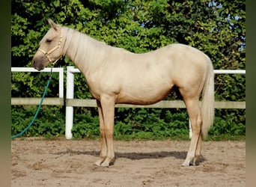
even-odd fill
[[[100,63],[106,55],[106,51],[103,49],[106,44],[79,31],[71,28],[66,29],[67,37],[63,47],[63,55],[67,55],[86,76],[101,65]]]

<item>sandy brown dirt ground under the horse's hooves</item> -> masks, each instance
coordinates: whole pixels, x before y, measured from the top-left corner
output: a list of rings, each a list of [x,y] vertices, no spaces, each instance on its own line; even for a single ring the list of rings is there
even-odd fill
[[[246,186],[246,141],[204,141],[198,166],[181,167],[189,141],[115,141],[115,165],[94,165],[99,141],[11,142],[14,186]]]

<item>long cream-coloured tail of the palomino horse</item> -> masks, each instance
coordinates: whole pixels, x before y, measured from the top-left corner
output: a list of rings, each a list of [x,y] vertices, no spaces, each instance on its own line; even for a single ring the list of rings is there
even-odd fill
[[[210,126],[214,119],[214,72],[213,64],[207,56],[208,69],[202,91],[201,116],[203,120],[201,132],[204,138],[207,137]]]

